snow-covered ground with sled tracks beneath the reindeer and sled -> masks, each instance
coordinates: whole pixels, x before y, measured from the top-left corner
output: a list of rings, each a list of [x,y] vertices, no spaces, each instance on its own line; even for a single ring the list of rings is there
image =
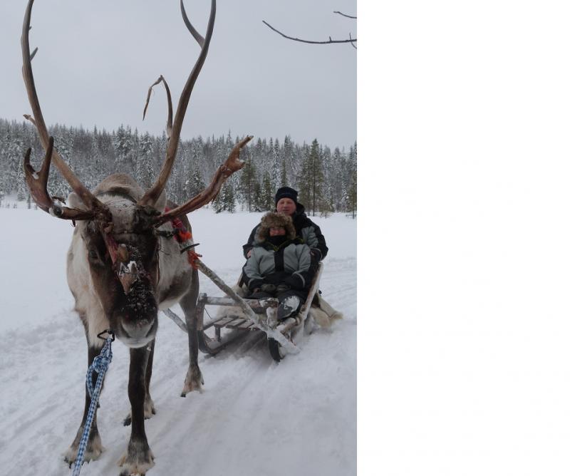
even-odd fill
[[[233,283],[241,245],[261,214],[190,215],[197,251]],[[356,220],[315,217],[329,247],[323,296],[344,314],[317,329],[301,353],[275,363],[265,341],[200,354],[203,393],[180,398],[187,336],[163,314],[146,422],[150,475],[356,474]],[[81,421],[86,373],[83,327],[73,313],[65,257],[72,228],[41,210],[0,208],[0,474],[68,475],[62,453]],[[220,291],[200,276],[201,291]],[[118,475],[130,428],[128,351],[113,344],[98,427],[106,451],[82,475]]]

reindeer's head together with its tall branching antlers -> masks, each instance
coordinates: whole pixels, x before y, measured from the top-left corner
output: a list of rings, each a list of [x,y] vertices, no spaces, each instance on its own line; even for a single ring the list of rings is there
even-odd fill
[[[123,184],[110,183],[118,177],[118,175],[112,175],[103,180],[93,193],[61,159],[53,147],[53,138],[49,137],[46,123],[43,120],[31,68],[31,60],[36,51],[30,53],[28,39],[32,5],[33,0],[29,0],[21,36],[22,71],[28,99],[33,110],[33,117],[30,115],[25,117],[36,125],[39,138],[46,150],[46,157],[41,169],[36,172],[30,164],[31,150],[26,152],[24,158],[26,183],[38,207],[55,217],[78,221],[77,232],[81,234],[85,244],[86,263],[93,286],[110,321],[111,329],[128,346],[144,346],[155,338],[157,329],[156,289],[160,273],[157,255],[160,238],[157,235],[157,227],[213,200],[227,177],[244,166],[244,162],[239,160],[239,151],[252,139],[247,136],[235,145],[226,162],[218,168],[206,189],[184,205],[170,212],[164,212],[163,192],[174,165],[182,121],[190,101],[190,94],[207,56],[214,29],[216,3],[212,0],[206,36],[202,37],[190,24],[182,0],[180,1],[182,18],[187,29],[199,43],[201,51],[180,95],[174,121],[172,121],[170,89],[162,76],[155,83],[162,81],[167,92],[168,145],[165,162],[154,185],[144,192],[136,185],[135,180],[127,175],[120,175]],[[68,206],[55,202],[47,191],[52,159],[73,189],[74,193],[70,196]],[[121,187],[125,187],[126,192],[123,190],[123,192],[116,193]]]

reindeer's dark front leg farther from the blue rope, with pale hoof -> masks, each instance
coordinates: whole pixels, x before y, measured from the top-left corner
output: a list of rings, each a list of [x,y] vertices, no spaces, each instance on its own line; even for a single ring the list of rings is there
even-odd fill
[[[129,400],[131,431],[127,452],[118,465],[124,467],[120,476],[145,475],[155,465],[145,433],[145,374],[149,352],[146,346],[130,349]]]

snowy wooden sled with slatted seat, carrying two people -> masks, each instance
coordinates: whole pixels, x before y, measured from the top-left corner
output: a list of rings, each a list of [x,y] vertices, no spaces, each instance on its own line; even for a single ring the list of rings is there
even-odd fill
[[[209,269],[208,271],[212,272]],[[205,293],[199,294],[196,308],[199,350],[203,353],[215,355],[230,343],[244,337],[249,332],[262,331],[266,333],[269,353],[271,353],[271,357],[275,361],[281,361],[286,353],[299,352],[293,340],[299,331],[304,329],[311,305],[314,304],[314,301],[317,301],[315,296],[318,292],[318,283],[321,280],[322,271],[323,264],[319,263],[307,299],[299,312],[295,316],[279,322],[276,320],[278,306],[276,298],[242,299],[239,296],[235,296],[233,291],[228,293],[230,295],[234,294],[233,297],[215,297],[208,296]],[[218,276],[215,277],[219,279]],[[212,281],[216,282],[214,279]],[[227,288],[227,286],[225,287]],[[224,289],[224,291],[227,291],[227,289]],[[238,306],[238,299],[242,301],[241,308]],[[246,312],[243,310],[243,304],[247,305]],[[227,306],[228,309],[221,316],[216,316],[204,323],[206,306]],[[174,312],[167,309],[165,314],[175,321],[177,326],[186,331],[186,324]]]

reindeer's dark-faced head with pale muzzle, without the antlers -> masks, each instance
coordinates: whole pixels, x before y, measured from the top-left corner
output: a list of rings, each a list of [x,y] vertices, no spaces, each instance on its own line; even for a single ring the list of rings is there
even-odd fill
[[[129,180],[130,195],[138,195],[140,188],[127,175],[104,180],[95,193],[107,207],[110,222],[83,220],[76,233],[84,245],[79,247],[85,254],[82,262],[88,266],[93,291],[110,328],[126,345],[139,347],[155,338],[157,331],[160,237],[154,219],[160,212],[137,205],[130,195],[113,193],[123,190],[118,181]],[[97,193],[101,189],[103,195]],[[75,193],[68,198],[68,205],[82,207]]]

